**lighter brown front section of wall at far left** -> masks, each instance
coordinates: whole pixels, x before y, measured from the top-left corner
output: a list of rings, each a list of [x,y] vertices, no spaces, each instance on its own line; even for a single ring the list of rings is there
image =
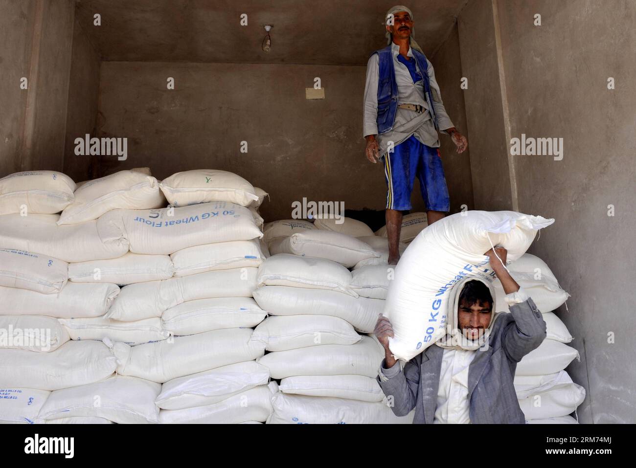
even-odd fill
[[[0,8],[0,175],[62,170],[74,2],[6,0]]]

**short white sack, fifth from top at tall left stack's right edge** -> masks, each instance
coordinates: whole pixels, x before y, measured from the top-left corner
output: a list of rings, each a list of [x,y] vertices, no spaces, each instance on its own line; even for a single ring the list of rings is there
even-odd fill
[[[252,298],[212,298],[171,307],[163,312],[162,322],[163,329],[181,336],[225,328],[251,328],[266,315]]]

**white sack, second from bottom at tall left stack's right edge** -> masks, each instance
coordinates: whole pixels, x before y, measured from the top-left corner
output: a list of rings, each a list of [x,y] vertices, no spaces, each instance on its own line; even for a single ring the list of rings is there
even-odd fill
[[[155,403],[162,409],[214,404],[257,385],[267,385],[269,380],[270,371],[258,362],[237,362],[169,380]]]

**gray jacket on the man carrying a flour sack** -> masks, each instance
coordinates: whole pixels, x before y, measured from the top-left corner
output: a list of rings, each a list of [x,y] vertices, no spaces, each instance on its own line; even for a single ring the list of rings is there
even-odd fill
[[[525,423],[513,385],[516,363],[544,338],[546,322],[532,299],[510,306],[510,313],[495,320],[488,348],[476,350],[468,368],[471,423]],[[415,408],[413,423],[433,422],[443,352],[444,348],[432,345],[388,380],[378,375],[384,394],[393,396],[393,413],[405,416]]]

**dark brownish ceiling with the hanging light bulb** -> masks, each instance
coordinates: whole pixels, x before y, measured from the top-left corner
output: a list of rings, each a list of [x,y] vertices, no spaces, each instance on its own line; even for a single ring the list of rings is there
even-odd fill
[[[365,65],[385,46],[382,22],[396,0],[77,0],[102,60]],[[415,39],[431,56],[467,0],[406,4]],[[93,26],[100,13],[102,25]],[[239,24],[247,13],[248,25]],[[263,25],[272,24],[265,53]]]

